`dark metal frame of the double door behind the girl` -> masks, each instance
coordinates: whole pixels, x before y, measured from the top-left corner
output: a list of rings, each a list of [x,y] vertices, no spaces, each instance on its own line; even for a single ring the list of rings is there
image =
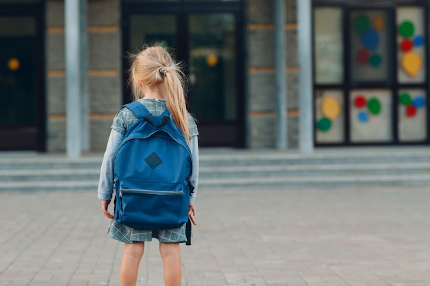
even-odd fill
[[[123,102],[130,102],[130,92],[126,87],[128,80],[126,67],[128,67],[128,60],[126,52],[129,50],[128,39],[130,37],[128,32],[129,19],[131,14],[174,14],[177,16],[177,43],[176,56],[179,60],[188,64],[188,14],[190,13],[210,13],[210,12],[228,12],[234,14],[236,19],[236,115],[235,121],[205,121],[203,126],[199,126],[202,132],[214,132],[214,138],[223,136],[223,133],[218,131],[223,126],[235,126],[237,139],[232,145],[219,145],[216,142],[201,141],[204,147],[245,147],[245,58],[241,56],[245,51],[245,24],[244,24],[244,3],[245,1],[169,1],[166,2],[148,2],[144,3],[129,3],[122,0],[122,55],[124,73],[122,73],[123,81]],[[187,71],[188,72],[188,71]],[[232,123],[234,122],[234,123]],[[220,132],[220,133],[217,133]]]

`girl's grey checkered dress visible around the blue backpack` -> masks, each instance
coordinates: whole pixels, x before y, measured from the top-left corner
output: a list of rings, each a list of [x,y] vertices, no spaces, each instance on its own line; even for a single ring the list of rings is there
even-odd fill
[[[144,104],[144,106],[151,112],[152,115],[161,115],[164,110],[166,110],[166,102],[161,99],[138,99],[139,102]],[[128,108],[122,108],[115,119],[113,119],[113,124],[111,128],[117,130],[123,135],[126,129],[137,121],[137,117]],[[190,136],[198,135],[198,130],[194,119],[191,116],[188,117],[188,122],[190,124]],[[180,228],[171,228],[163,230],[144,230],[136,229],[123,224],[118,223],[115,219],[111,219],[108,226],[107,233],[113,239],[125,243],[136,243],[139,241],[151,241],[152,237],[158,239],[161,242],[185,242],[187,239],[185,237],[185,224]]]

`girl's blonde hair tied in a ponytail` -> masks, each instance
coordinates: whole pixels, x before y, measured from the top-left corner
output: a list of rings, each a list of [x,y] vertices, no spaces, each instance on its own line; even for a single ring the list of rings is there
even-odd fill
[[[166,106],[174,123],[182,130],[187,143],[190,143],[188,111],[185,102],[188,82],[182,71],[182,64],[174,62],[170,53],[159,44],[144,45],[141,51],[130,55],[130,60],[128,83],[134,99],[145,96],[140,86],[160,86],[165,92]]]

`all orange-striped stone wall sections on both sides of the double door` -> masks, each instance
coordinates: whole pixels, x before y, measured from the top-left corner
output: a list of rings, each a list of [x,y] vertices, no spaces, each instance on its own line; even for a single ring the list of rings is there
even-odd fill
[[[275,147],[273,1],[244,0],[247,52],[247,146]],[[296,0],[286,1],[288,147],[298,144]],[[120,0],[88,0],[91,151],[104,150],[122,104]],[[47,151],[65,152],[64,1],[47,0]]]

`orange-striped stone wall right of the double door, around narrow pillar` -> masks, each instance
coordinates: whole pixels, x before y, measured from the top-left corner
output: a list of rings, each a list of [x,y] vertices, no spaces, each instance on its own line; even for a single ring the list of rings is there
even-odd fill
[[[286,82],[288,147],[298,145],[298,62],[296,0],[286,3]],[[273,1],[247,0],[247,145],[273,148],[275,68]]]

